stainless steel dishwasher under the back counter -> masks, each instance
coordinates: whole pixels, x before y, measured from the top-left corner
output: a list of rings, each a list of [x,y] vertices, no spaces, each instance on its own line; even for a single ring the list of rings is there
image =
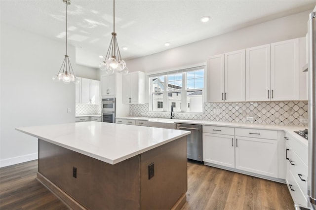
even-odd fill
[[[187,136],[188,159],[202,161],[202,126],[176,123],[176,129],[191,131]]]

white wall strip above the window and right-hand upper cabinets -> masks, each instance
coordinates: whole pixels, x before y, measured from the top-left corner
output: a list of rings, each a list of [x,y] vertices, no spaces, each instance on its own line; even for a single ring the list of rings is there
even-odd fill
[[[212,55],[302,37],[307,33],[310,12],[297,13],[161,53],[128,60],[126,66],[130,72],[171,70],[205,63]]]

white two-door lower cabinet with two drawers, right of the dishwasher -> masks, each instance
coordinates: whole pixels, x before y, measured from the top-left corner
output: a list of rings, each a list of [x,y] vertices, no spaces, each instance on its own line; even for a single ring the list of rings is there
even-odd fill
[[[203,161],[249,175],[280,178],[278,132],[203,126]]]

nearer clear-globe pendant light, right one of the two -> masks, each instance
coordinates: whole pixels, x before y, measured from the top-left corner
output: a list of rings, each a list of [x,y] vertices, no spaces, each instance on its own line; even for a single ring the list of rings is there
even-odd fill
[[[119,72],[128,73],[125,62],[122,60],[118,47],[117,33],[115,33],[115,0],[113,0],[113,33],[110,46],[103,62],[99,64],[100,70],[105,70],[107,74]]]

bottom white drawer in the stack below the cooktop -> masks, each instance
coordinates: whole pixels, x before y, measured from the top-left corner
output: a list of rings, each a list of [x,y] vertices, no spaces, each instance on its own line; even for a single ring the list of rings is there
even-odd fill
[[[295,181],[295,178],[291,171],[288,172],[288,180],[286,181],[288,190],[291,193],[294,204],[301,204],[307,206],[307,194],[305,195],[300,189],[299,185]]]

